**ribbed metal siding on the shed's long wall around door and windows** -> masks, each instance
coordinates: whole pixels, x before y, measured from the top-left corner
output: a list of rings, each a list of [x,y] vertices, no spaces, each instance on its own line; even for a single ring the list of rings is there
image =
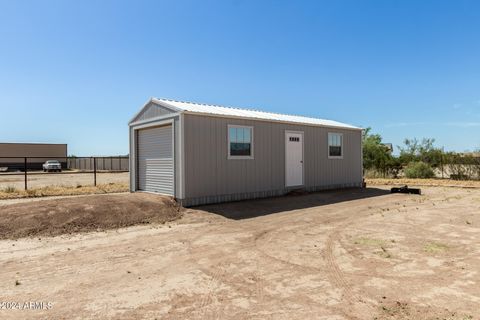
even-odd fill
[[[197,115],[184,117],[185,198],[211,199],[285,190],[285,130],[304,132],[305,188],[362,183],[359,130]],[[254,159],[227,159],[229,124],[253,126]],[[328,159],[328,132],[343,134],[343,159]]]

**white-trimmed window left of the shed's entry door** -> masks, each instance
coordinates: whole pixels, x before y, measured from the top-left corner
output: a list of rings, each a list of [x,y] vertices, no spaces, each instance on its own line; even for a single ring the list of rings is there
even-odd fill
[[[228,125],[228,158],[253,159],[253,127]]]

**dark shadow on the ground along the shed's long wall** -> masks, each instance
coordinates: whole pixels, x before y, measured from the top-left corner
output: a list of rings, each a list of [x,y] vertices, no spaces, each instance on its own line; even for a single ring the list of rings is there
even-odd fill
[[[212,204],[199,206],[196,207],[196,209],[218,214],[229,219],[241,220],[290,210],[313,208],[345,201],[380,197],[386,194],[390,194],[390,191],[378,188],[351,188]]]

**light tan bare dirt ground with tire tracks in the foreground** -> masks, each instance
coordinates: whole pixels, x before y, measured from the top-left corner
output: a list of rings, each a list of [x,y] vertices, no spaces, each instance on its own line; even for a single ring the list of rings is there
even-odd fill
[[[2,319],[479,319],[480,190],[382,188],[0,241]]]

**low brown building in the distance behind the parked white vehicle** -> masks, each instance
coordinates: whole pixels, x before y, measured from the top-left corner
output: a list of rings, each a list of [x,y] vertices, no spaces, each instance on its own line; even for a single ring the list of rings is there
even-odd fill
[[[53,143],[0,143],[0,168],[3,168],[3,170],[5,168],[8,168],[8,171],[23,170],[25,157],[27,157],[28,169],[40,170],[42,169],[42,164],[47,160],[58,160],[62,163],[62,168],[66,168],[67,145]]]

